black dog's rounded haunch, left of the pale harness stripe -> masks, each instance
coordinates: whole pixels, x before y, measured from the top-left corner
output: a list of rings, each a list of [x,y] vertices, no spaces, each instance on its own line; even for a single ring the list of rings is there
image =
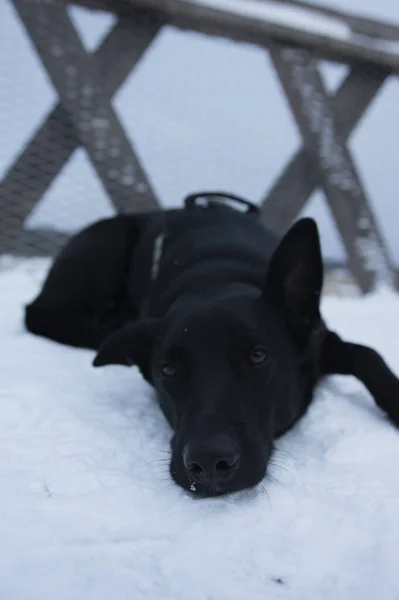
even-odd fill
[[[100,343],[135,318],[125,288],[142,218],[99,221],[76,235],[55,260],[39,296],[26,307],[36,335],[83,348]]]

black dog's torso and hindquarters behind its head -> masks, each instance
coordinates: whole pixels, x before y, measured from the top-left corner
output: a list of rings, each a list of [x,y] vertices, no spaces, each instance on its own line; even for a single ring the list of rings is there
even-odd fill
[[[27,306],[27,329],[98,348],[126,321],[160,314],[187,291],[258,284],[276,240],[256,214],[226,206],[120,215],[74,236]]]

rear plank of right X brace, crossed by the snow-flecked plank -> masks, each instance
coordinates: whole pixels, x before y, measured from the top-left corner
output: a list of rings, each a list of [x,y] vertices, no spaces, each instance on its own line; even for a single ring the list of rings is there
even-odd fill
[[[357,65],[352,67],[336,95],[330,97],[331,110],[343,141],[362,119],[389,75],[388,71]],[[264,223],[276,233],[283,234],[319,184],[312,157],[301,148],[262,201]]]

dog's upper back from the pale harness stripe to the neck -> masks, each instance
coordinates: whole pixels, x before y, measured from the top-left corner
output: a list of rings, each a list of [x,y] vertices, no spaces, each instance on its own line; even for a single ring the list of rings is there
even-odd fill
[[[261,287],[276,245],[256,215],[224,206],[155,214],[133,249],[129,297],[144,316],[216,283]]]

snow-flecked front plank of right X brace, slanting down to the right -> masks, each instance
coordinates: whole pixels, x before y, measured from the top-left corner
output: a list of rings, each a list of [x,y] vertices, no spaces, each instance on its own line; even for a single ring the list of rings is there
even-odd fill
[[[396,273],[338,131],[316,61],[306,50],[277,44],[271,47],[271,57],[361,290],[368,292],[379,281],[396,285]]]

